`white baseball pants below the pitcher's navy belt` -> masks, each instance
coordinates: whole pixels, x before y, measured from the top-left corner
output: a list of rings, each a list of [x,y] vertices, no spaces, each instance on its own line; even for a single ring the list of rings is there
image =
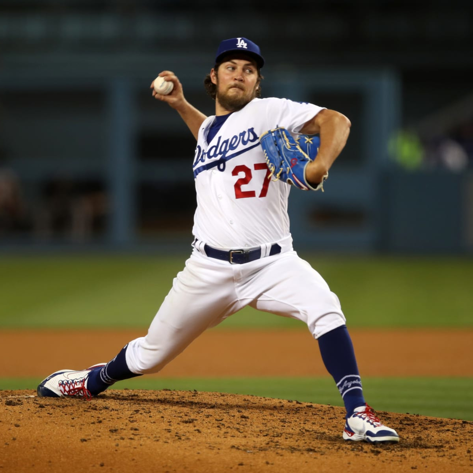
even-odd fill
[[[299,319],[315,339],[345,324],[338,297],[292,249],[245,264],[194,249],[148,334],[128,344],[128,368],[135,374],[158,372],[204,330],[246,305]]]

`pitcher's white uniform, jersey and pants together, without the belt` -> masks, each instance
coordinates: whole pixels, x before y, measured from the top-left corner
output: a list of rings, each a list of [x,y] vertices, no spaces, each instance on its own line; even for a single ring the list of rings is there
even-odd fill
[[[194,242],[148,334],[128,344],[131,372],[159,371],[204,330],[248,305],[301,320],[315,338],[345,324],[338,297],[292,249],[290,187],[267,179],[259,141],[278,126],[296,135],[320,110],[286,99],[255,98],[230,114],[210,143],[207,131],[215,117],[202,123],[193,165],[193,233],[199,243]],[[268,251],[272,243],[279,245],[279,253]],[[224,250],[260,246],[261,257],[232,264],[208,256],[203,244]]]

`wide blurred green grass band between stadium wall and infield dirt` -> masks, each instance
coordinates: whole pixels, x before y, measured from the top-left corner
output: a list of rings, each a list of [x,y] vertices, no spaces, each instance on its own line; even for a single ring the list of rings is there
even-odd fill
[[[473,259],[301,254],[350,327],[472,327]],[[184,256],[1,256],[0,326],[148,327]],[[305,328],[251,308],[222,327]]]

